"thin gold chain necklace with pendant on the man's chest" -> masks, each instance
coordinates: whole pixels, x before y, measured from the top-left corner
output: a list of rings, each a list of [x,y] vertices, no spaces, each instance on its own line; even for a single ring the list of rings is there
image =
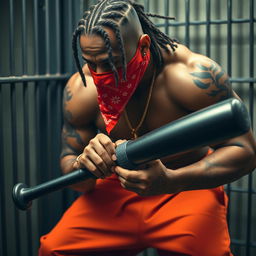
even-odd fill
[[[144,112],[142,114],[142,117],[141,117],[140,122],[137,125],[137,127],[135,127],[135,128],[132,127],[132,124],[131,124],[131,122],[130,122],[130,120],[128,118],[126,109],[124,109],[125,121],[126,121],[126,123],[128,124],[128,126],[129,126],[129,128],[131,130],[132,139],[138,138],[137,132],[140,129],[141,125],[143,124],[144,120],[145,120],[145,117],[146,117],[146,114],[147,114],[147,111],[148,111],[148,107],[149,107],[149,102],[150,102],[150,99],[151,99],[151,96],[152,96],[153,85],[154,85],[154,82],[155,82],[155,75],[156,75],[156,71],[154,70],[154,74],[153,74],[152,82],[150,84],[150,88],[149,88],[149,93],[148,93],[148,98],[147,98],[147,101],[146,101],[145,109],[144,109]]]

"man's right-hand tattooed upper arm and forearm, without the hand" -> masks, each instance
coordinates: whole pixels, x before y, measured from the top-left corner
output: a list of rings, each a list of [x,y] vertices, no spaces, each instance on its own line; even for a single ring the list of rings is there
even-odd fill
[[[239,97],[231,89],[226,72],[214,61],[202,58],[190,72],[194,85],[202,90],[203,104]],[[198,99],[200,100],[200,99]],[[247,134],[210,145],[214,152],[201,161],[179,169],[183,190],[212,188],[227,184],[252,172],[256,167],[256,143],[250,130]]]

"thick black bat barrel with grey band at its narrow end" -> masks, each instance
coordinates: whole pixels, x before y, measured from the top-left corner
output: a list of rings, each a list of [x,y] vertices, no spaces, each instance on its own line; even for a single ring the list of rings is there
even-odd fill
[[[127,169],[164,156],[216,144],[250,129],[245,105],[231,98],[193,112],[117,148],[118,164]]]

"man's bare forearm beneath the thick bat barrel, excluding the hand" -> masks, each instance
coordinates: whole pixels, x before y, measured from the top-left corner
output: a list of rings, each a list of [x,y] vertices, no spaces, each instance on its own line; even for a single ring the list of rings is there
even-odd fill
[[[219,148],[197,163],[175,172],[182,191],[208,189],[235,181],[253,171],[255,154],[242,147]]]

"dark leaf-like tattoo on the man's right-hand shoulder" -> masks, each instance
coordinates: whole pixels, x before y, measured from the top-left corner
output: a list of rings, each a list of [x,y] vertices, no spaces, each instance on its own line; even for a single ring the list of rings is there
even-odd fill
[[[211,97],[220,97],[220,100],[227,99],[231,95],[231,85],[225,71],[216,63],[209,62],[209,65],[197,64],[197,72],[191,72],[194,84]]]

